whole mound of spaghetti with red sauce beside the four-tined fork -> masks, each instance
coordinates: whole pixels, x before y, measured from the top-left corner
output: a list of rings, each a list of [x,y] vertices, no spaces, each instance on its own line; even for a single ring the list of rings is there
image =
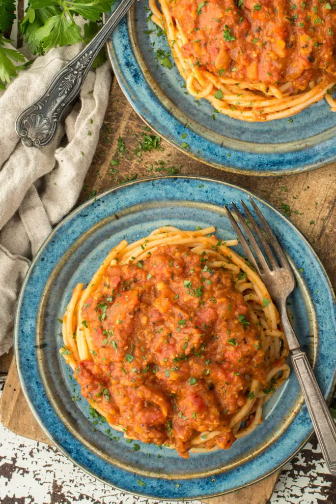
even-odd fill
[[[228,449],[287,379],[279,314],[214,227],[123,240],[66,308],[60,353],[81,393],[125,437]]]

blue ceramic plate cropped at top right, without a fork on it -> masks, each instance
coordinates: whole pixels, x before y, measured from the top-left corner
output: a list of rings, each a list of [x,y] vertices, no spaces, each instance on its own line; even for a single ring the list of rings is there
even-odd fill
[[[169,47],[147,18],[148,0],[135,2],[113,32],[108,52],[127,99],[160,136],[200,161],[246,174],[298,173],[336,159],[336,113],[325,100],[293,118],[269,122],[214,113],[209,102],[186,92],[173,58],[171,70],[155,58],[158,49]]]

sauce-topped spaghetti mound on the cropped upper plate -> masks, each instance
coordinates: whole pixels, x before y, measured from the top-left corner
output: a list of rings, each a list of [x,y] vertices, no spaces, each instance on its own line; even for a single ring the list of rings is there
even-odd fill
[[[149,0],[196,99],[246,121],[326,98],[336,111],[336,4],[329,0]]]

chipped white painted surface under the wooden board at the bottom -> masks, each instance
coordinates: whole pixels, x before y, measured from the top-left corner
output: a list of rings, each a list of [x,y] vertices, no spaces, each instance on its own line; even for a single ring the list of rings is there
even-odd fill
[[[284,467],[270,504],[335,504],[335,481],[326,474],[316,443],[308,443]],[[18,436],[0,423],[0,502],[154,504],[158,501],[115,490],[75,467],[57,449]]]

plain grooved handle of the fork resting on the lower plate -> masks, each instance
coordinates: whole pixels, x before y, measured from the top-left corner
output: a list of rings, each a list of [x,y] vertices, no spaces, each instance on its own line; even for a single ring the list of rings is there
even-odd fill
[[[313,422],[325,464],[330,473],[336,475],[336,425],[320,391],[307,355],[301,350],[294,350],[292,352],[292,362]]]

